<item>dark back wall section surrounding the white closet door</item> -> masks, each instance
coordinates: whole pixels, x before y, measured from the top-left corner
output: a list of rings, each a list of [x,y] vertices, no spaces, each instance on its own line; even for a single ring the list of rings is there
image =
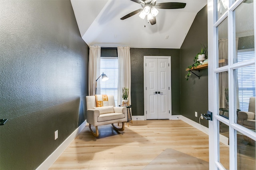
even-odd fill
[[[132,115],[144,115],[144,56],[171,56],[172,115],[180,114],[180,49],[131,48]]]

